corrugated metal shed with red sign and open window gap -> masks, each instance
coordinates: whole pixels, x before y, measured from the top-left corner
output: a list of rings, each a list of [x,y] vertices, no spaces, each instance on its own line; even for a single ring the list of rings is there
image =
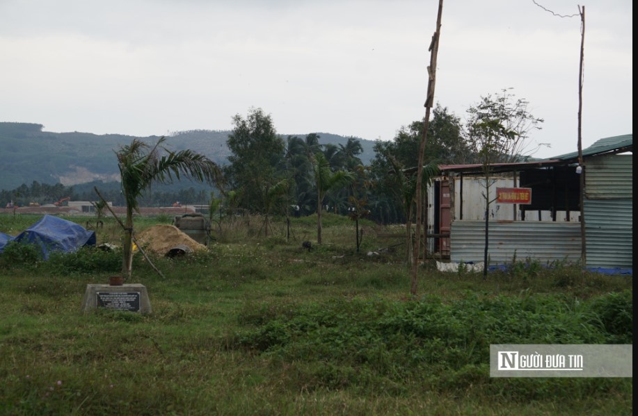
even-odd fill
[[[632,155],[619,153],[633,150],[633,135],[614,136],[598,140],[584,149],[585,199],[584,215],[587,241],[587,265],[590,267],[632,267],[633,254],[633,176]],[[528,163],[493,165],[493,172],[522,172],[527,169],[555,169],[577,163],[578,153],[567,153],[550,160]],[[445,165],[442,172],[454,178],[457,174],[480,174],[480,165]],[[561,171],[560,169],[563,169]],[[565,174],[563,172],[562,174]],[[455,177],[456,176],[456,177]],[[478,179],[478,178],[476,178]],[[450,259],[455,262],[480,262],[484,256],[484,221],[466,211],[481,198],[465,187],[463,220],[458,219],[460,206],[454,203],[456,215],[451,228]],[[454,195],[458,197],[458,195]],[[474,207],[475,208],[475,207]],[[539,208],[541,209],[541,208]],[[470,209],[474,212],[474,210]],[[477,209],[477,213],[480,211]],[[544,211],[543,211],[544,212]],[[526,219],[532,213],[526,215]],[[571,216],[579,212],[571,211]],[[513,216],[513,214],[512,214]],[[515,253],[517,260],[533,258],[543,263],[557,260],[578,262],[581,251],[580,222],[558,221],[497,221],[490,222],[489,258],[492,264],[511,263]],[[468,218],[472,217],[472,218]],[[517,215],[518,217],[518,215]],[[518,218],[517,218],[518,219]],[[532,219],[532,217],[529,217]],[[544,218],[543,218],[544,219]]]

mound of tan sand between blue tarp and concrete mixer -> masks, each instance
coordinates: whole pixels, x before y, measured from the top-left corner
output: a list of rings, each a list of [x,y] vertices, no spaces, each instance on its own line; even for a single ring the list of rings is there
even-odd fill
[[[152,251],[159,256],[206,249],[204,244],[196,242],[173,225],[152,226],[135,237],[137,244],[141,245],[145,251]]]

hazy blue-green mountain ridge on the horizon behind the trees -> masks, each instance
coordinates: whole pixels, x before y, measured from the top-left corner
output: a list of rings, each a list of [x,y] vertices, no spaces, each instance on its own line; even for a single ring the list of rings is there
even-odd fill
[[[93,133],[54,133],[43,131],[42,124],[0,122],[0,190],[13,190],[22,184],[39,183],[77,185],[91,181],[118,181],[120,174],[113,152],[129,144],[136,136]],[[191,149],[206,155],[218,165],[228,163],[226,145],[231,131],[191,130],[166,136],[169,149]],[[296,134],[305,138],[308,133]],[[331,133],[317,133],[320,144],[346,144],[348,138]],[[286,140],[288,136],[282,134]],[[159,136],[141,140],[153,143]],[[356,138],[365,165],[374,158],[374,141]]]

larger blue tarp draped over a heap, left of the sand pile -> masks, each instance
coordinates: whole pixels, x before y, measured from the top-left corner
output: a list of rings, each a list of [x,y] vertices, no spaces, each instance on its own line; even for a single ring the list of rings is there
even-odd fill
[[[38,244],[45,260],[51,251],[72,253],[85,245],[95,246],[95,231],[66,219],[45,215],[40,221],[20,233],[16,241]]]

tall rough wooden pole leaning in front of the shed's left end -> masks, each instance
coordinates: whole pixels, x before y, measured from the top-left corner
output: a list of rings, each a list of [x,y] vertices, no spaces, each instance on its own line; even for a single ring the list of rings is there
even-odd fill
[[[423,134],[421,136],[421,142],[419,145],[419,163],[417,165],[417,218],[416,218],[416,235],[415,235],[415,243],[413,247],[413,256],[412,256],[412,285],[410,287],[410,293],[415,295],[417,294],[417,270],[419,267],[419,251],[420,251],[420,242],[421,242],[421,221],[422,221],[422,197],[421,197],[421,187],[423,185],[423,158],[425,153],[425,144],[427,142],[427,134],[428,134],[428,126],[430,120],[430,109],[434,103],[434,85],[436,82],[436,56],[438,53],[438,40],[441,33],[441,14],[443,10],[443,0],[439,0],[438,2],[438,13],[436,16],[436,31],[432,35],[432,41],[430,43],[430,47],[428,50],[430,51],[430,65],[428,69],[428,92],[427,98],[425,100],[425,118],[423,119]],[[427,229],[427,224],[425,225]]]

